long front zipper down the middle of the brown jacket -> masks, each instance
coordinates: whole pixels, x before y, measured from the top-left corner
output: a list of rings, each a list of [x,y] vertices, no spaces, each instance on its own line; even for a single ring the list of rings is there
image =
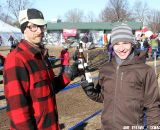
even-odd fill
[[[117,97],[117,86],[118,86],[118,73],[119,73],[119,65],[116,68],[116,86],[115,86],[115,95],[114,95],[114,107],[113,107],[113,124],[115,126],[115,106],[116,106],[116,97]]]

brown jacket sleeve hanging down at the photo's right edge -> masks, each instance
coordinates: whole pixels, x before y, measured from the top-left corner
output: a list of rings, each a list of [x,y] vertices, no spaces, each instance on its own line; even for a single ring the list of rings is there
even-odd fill
[[[144,107],[147,108],[147,126],[160,125],[160,98],[156,74],[152,68],[148,70],[145,79]]]

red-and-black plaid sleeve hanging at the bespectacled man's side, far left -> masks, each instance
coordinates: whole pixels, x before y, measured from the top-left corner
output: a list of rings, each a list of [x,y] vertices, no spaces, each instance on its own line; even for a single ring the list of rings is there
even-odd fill
[[[24,63],[14,54],[6,58],[4,66],[4,91],[7,114],[11,126],[18,130],[35,130],[33,115],[29,112],[29,78]]]

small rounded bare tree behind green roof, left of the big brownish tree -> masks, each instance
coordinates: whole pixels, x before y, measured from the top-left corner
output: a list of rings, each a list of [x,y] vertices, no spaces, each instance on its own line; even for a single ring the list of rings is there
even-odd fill
[[[80,9],[71,9],[65,14],[66,22],[82,22],[84,18],[83,11]]]

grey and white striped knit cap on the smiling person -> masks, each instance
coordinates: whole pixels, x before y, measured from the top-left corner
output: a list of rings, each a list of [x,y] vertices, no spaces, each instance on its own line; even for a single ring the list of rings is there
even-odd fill
[[[132,29],[128,25],[122,24],[112,29],[111,46],[115,45],[118,42],[129,42],[132,44],[134,43]]]

